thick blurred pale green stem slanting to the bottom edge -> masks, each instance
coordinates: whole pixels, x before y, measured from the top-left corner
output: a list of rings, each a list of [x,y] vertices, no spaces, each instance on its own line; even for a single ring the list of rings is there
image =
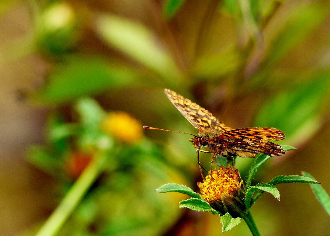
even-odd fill
[[[89,187],[98,177],[105,159],[105,154],[94,156],[94,159],[84,169],[78,180],[74,183],[58,207],[35,236],[53,236],[59,231],[78,203],[81,201]]]

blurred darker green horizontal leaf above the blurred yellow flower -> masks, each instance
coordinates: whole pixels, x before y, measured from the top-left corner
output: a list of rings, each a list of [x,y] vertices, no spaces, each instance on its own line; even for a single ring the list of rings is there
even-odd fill
[[[47,84],[32,98],[42,103],[63,103],[135,82],[131,69],[111,65],[102,58],[69,58],[55,68]]]

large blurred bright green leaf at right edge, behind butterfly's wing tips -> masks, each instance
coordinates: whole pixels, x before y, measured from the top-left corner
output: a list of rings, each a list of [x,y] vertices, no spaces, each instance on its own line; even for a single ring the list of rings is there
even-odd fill
[[[308,82],[282,91],[266,101],[253,125],[276,127],[285,133],[290,143],[294,139],[303,142],[320,126],[320,107],[329,99],[329,88],[330,71],[320,72]]]

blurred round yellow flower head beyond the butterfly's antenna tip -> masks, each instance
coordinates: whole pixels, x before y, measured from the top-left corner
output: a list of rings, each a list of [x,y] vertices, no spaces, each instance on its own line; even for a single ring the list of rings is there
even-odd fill
[[[142,124],[123,111],[108,113],[102,122],[102,130],[126,143],[135,143],[142,137]]]

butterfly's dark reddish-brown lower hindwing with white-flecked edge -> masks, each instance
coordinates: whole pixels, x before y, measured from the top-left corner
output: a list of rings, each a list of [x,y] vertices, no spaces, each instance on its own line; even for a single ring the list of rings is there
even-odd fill
[[[240,157],[255,157],[259,153],[274,157],[285,153],[280,145],[261,139],[225,138],[221,144],[223,149]]]

